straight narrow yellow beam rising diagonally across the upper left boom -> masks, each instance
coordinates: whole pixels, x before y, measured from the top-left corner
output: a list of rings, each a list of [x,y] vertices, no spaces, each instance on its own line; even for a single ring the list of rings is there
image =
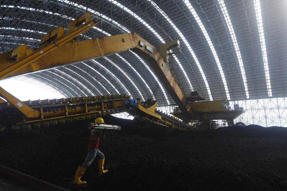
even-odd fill
[[[88,23],[86,23],[85,25],[83,25],[82,27],[78,28],[77,30],[74,30],[72,33],[65,35],[61,38],[59,38],[57,41],[55,41],[52,44],[49,44],[45,47],[41,47],[38,49],[33,49],[32,53],[22,59],[20,59],[19,61],[16,62],[11,62],[11,60],[5,58],[4,56],[5,53],[3,54],[4,56],[0,56],[0,80],[10,77],[10,76],[16,76],[17,75],[17,71],[27,67],[29,64],[31,64],[32,62],[36,62],[36,60],[38,60],[39,58],[45,57],[47,55],[49,55],[48,53],[52,52],[54,50],[54,52],[58,52],[61,54],[61,52],[59,52],[59,47],[61,47],[63,44],[65,44],[66,42],[68,42],[69,40],[73,39],[74,37],[78,36],[79,34],[83,33],[84,31],[90,29],[91,27],[93,27],[94,25],[96,25],[97,22],[96,21],[90,21]],[[31,50],[31,49],[29,49]],[[63,56],[63,55],[61,55]],[[57,63],[57,62],[56,62]],[[44,67],[45,69],[47,67],[49,67],[48,65],[44,65],[39,67],[39,65],[41,65],[42,63],[38,63],[37,61],[37,67],[33,67],[33,71],[35,70],[39,70],[41,67]],[[27,72],[27,71],[26,71]],[[12,75],[13,73],[16,73],[16,75]]]

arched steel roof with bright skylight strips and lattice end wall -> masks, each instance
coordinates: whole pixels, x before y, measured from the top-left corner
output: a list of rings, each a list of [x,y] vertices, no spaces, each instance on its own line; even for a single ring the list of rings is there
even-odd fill
[[[99,24],[77,40],[136,32],[159,50],[160,44],[179,39],[182,53],[172,62],[184,92],[201,90],[207,100],[230,98],[246,110],[238,119],[243,122],[284,126],[287,14],[282,3],[4,0],[0,4],[0,52],[20,44],[38,47],[50,30],[66,29],[72,19],[89,11]],[[159,106],[174,103],[149,63],[129,50],[25,78],[47,84],[65,97],[126,93],[144,100],[155,98]]]

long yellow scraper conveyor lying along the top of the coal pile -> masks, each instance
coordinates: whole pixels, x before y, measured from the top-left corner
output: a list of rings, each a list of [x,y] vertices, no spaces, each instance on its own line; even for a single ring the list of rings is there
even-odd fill
[[[128,100],[125,94],[90,96],[79,98],[61,98],[23,101],[25,104],[38,110],[38,118],[25,118],[13,105],[0,103],[0,121],[1,125],[12,128],[37,128],[41,126],[57,125],[73,121],[97,118],[104,115],[115,113],[130,112],[131,106],[126,106],[123,101]],[[141,120],[150,121],[167,127],[181,130],[194,130],[190,125],[156,111],[162,116],[160,120],[148,115],[139,116]]]

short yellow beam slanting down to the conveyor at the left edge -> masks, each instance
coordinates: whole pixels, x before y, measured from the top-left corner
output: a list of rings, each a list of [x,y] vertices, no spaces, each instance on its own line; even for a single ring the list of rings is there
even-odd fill
[[[13,104],[18,110],[20,110],[24,115],[26,115],[28,118],[35,118],[39,117],[40,113],[37,110],[32,109],[10,93],[8,93],[6,90],[4,90],[2,87],[0,87],[0,95],[5,98],[7,101],[9,101],[11,104]]]

